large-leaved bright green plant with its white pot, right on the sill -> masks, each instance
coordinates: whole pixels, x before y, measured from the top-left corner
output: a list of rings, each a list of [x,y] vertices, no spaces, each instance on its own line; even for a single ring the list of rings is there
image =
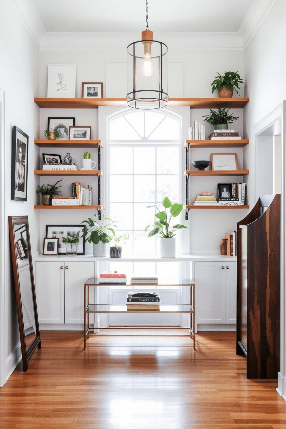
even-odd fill
[[[155,207],[158,210],[158,213],[155,213],[155,217],[158,221],[154,222],[154,229],[151,230],[148,234],[148,237],[155,236],[158,234],[160,236],[160,256],[162,258],[174,258],[176,255],[176,242],[175,242],[175,231],[178,229],[187,229],[185,225],[176,224],[172,227],[170,222],[172,218],[176,218],[180,215],[183,210],[183,204],[172,204],[170,199],[166,196],[162,202],[165,210],[160,211],[157,205],[149,205],[148,207]],[[167,213],[167,208],[169,208],[169,213]],[[150,225],[147,225],[145,228],[145,233],[149,229]]]

